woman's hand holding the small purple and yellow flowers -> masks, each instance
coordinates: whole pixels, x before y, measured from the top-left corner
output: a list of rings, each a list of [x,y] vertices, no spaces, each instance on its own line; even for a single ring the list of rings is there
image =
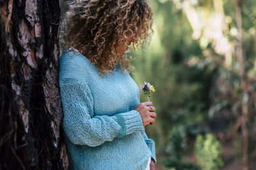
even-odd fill
[[[149,107],[152,106],[152,109]],[[145,103],[140,103],[136,108],[136,111],[140,113],[143,126],[148,125],[148,124],[155,124],[155,118],[156,118],[156,108],[153,106],[152,102],[145,102]]]

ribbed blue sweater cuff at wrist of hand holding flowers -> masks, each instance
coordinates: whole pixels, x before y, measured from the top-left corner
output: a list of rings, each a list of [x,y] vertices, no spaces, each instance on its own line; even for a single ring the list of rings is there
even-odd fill
[[[143,131],[143,122],[140,113],[136,110],[131,110],[125,113],[115,115],[121,129],[118,133],[118,138],[131,134],[132,132]]]

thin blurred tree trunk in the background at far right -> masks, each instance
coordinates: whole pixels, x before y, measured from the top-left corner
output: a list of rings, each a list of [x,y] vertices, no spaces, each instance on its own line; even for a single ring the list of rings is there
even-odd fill
[[[237,24],[237,60],[239,62],[239,74],[241,78],[241,90],[243,91],[242,99],[242,115],[241,115],[241,129],[243,136],[243,170],[248,170],[249,167],[249,157],[248,157],[248,88],[247,88],[247,74],[244,64],[244,55],[243,55],[243,27],[242,27],[242,16],[241,16],[241,6],[242,1],[236,1],[236,24]]]

